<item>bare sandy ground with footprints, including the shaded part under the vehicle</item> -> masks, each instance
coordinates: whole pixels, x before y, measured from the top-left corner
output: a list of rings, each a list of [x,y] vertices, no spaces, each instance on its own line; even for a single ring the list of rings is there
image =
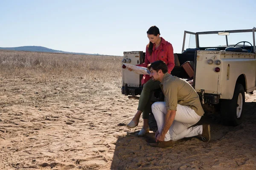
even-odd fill
[[[182,139],[152,148],[124,125],[138,100],[121,94],[121,78],[49,82],[0,79],[0,170],[255,170],[256,92],[246,94],[245,121],[223,126],[204,116],[212,140]],[[142,119],[141,119],[142,121]],[[148,136],[154,136],[151,131]]]

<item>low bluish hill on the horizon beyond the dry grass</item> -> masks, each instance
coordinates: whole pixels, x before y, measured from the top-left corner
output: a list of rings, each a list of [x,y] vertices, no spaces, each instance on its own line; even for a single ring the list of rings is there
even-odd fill
[[[100,55],[100,54],[74,53],[74,52],[53,50],[53,49],[46,48],[46,47],[41,47],[41,46],[0,47],[0,50],[34,51],[34,52],[63,53],[63,54],[79,54],[79,55]]]

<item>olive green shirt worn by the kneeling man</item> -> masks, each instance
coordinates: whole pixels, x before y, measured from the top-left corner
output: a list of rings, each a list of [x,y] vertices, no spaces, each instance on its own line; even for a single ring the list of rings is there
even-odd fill
[[[160,87],[165,96],[166,111],[177,111],[177,104],[187,105],[199,116],[204,115],[199,96],[192,86],[179,77],[164,74]]]

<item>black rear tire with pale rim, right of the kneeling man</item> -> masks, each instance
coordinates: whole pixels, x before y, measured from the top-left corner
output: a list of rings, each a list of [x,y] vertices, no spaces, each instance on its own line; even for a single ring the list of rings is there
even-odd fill
[[[244,115],[244,87],[237,83],[233,98],[221,99],[221,116],[224,125],[239,125],[242,123]]]

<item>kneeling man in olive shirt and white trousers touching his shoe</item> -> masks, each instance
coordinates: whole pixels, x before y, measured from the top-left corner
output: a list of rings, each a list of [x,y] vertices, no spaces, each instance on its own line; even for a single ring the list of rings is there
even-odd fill
[[[204,142],[210,140],[210,125],[195,125],[204,115],[198,94],[183,79],[172,76],[163,61],[148,65],[150,77],[160,81],[164,102],[155,102],[152,113],[157,121],[156,143],[152,147],[171,147],[172,141],[200,135]]]

